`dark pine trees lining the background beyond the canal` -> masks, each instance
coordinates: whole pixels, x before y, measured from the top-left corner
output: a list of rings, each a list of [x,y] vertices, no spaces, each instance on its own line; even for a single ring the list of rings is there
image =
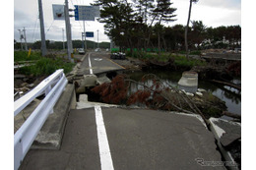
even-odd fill
[[[190,50],[240,46],[240,26],[207,28],[202,21],[188,20],[191,27],[166,27],[164,24],[176,21],[176,8],[170,0],[96,0],[93,5],[100,6],[98,21],[104,24],[105,33],[123,50],[185,50],[186,28]]]

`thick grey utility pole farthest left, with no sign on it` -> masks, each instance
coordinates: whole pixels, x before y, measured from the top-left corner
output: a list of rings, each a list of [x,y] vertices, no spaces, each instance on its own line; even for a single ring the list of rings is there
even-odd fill
[[[45,56],[47,53],[46,43],[45,43],[45,33],[44,33],[44,24],[43,24],[43,13],[41,0],[38,0],[38,9],[39,9],[39,19],[40,19],[40,33],[41,33],[41,55]]]

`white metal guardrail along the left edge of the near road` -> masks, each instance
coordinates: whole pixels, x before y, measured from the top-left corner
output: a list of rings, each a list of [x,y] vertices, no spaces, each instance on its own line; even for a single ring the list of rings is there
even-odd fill
[[[68,81],[63,69],[55,71],[35,86],[30,92],[14,102],[14,116],[20,113],[32,100],[45,93],[44,99],[33,110],[31,116],[14,135],[14,168],[18,169],[29,151],[32,142],[46,121]]]

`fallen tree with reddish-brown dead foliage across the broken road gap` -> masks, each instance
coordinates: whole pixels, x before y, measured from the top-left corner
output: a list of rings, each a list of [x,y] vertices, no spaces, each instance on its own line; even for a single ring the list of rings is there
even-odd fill
[[[147,80],[153,81],[152,85],[146,85]],[[136,92],[129,92],[131,84],[143,86]],[[224,102],[209,92],[202,96],[188,96],[185,91],[179,90],[171,85],[163,84],[155,75],[146,75],[142,83],[117,76],[111,83],[98,85],[92,89],[101,96],[101,100],[111,104],[146,105],[152,109],[179,111],[188,114],[198,114],[209,125],[209,117],[220,117],[226,110]]]

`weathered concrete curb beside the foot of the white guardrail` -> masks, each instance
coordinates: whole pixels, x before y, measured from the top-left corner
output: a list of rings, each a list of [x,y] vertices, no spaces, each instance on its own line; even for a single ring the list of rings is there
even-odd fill
[[[32,143],[32,149],[59,149],[70,109],[76,107],[75,86],[66,85],[53,114],[50,114]]]

